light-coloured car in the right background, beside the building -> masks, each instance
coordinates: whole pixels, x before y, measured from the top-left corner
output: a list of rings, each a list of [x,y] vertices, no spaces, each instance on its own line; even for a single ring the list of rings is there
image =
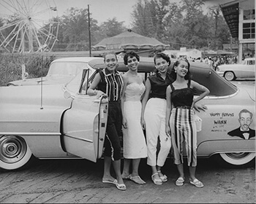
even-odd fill
[[[242,63],[222,64],[217,67],[217,73],[227,81],[235,79],[255,79],[255,58],[245,58]]]

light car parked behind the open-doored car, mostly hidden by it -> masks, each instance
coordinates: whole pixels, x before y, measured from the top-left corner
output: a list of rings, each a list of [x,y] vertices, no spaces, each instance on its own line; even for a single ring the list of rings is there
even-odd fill
[[[59,58],[50,63],[48,74],[42,78],[27,79],[26,67],[23,67],[22,80],[8,82],[7,86],[25,86],[25,85],[57,85],[64,84],[73,79],[83,68],[86,68],[89,60],[94,57],[84,58]]]

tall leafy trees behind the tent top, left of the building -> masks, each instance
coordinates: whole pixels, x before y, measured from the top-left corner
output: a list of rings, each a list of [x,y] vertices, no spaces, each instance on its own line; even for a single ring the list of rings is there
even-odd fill
[[[140,0],[132,12],[133,30],[143,36],[154,36],[160,42],[180,47],[200,48],[214,45],[221,49],[229,31],[221,13],[203,14],[203,0]],[[217,22],[217,23],[216,23]],[[214,42],[214,43],[213,43]]]

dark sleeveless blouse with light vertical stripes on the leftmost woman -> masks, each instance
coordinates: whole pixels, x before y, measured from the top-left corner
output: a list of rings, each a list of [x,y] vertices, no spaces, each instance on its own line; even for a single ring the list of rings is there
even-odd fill
[[[99,75],[101,81],[97,89],[107,94],[109,101],[119,101],[121,99],[121,91],[124,87],[121,74],[118,71],[112,74],[108,68],[104,68],[102,71],[99,71]]]

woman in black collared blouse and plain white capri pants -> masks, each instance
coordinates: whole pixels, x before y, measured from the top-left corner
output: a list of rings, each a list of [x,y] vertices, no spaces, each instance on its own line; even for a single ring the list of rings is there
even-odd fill
[[[170,58],[159,52],[154,56],[157,73],[148,76],[146,92],[142,101],[141,121],[146,128],[146,142],[148,149],[147,164],[151,166],[151,179],[154,184],[161,185],[167,181],[167,176],[161,172],[167,155],[170,152],[170,137],[165,133],[166,87],[170,81],[167,68]],[[157,143],[160,149],[157,154]]]

